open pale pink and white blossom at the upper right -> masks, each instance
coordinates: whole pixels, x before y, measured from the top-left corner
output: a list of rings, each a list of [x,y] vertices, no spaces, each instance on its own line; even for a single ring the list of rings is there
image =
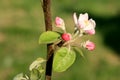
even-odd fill
[[[73,19],[79,29],[82,29],[85,33],[90,35],[95,34],[96,23],[93,19],[88,19],[88,13],[80,14],[78,19],[76,13],[74,13]]]

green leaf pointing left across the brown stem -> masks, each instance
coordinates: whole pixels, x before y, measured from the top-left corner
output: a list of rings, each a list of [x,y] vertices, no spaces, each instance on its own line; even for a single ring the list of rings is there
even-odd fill
[[[60,37],[60,34],[57,32],[46,31],[40,35],[39,43],[40,44],[41,43],[45,43],[45,44],[53,43],[53,42],[57,41],[59,39],[59,37]]]

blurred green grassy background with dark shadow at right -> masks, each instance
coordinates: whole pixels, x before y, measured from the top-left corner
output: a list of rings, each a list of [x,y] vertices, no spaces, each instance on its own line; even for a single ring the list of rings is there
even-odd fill
[[[53,72],[52,80],[120,80],[120,0],[52,0],[52,20],[60,16],[73,31],[73,12],[88,12],[96,23],[96,44],[92,52],[83,50],[86,61],[77,54],[66,72]],[[45,31],[40,0],[0,0],[0,80],[12,80],[38,57],[46,57],[39,45]]]

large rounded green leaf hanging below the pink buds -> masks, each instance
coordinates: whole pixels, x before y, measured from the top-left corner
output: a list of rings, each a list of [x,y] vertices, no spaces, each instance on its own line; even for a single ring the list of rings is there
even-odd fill
[[[73,50],[66,47],[61,47],[54,56],[53,70],[63,72],[68,69],[75,61],[76,54]]]

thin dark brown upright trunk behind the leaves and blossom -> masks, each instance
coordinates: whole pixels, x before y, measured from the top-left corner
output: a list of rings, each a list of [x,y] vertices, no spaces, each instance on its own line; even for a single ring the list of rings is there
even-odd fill
[[[43,0],[43,12],[45,19],[46,31],[52,31],[52,19],[51,19],[51,0]],[[53,49],[52,44],[47,45],[47,63],[46,63],[46,80],[51,80],[52,76],[52,63],[53,63]]]

